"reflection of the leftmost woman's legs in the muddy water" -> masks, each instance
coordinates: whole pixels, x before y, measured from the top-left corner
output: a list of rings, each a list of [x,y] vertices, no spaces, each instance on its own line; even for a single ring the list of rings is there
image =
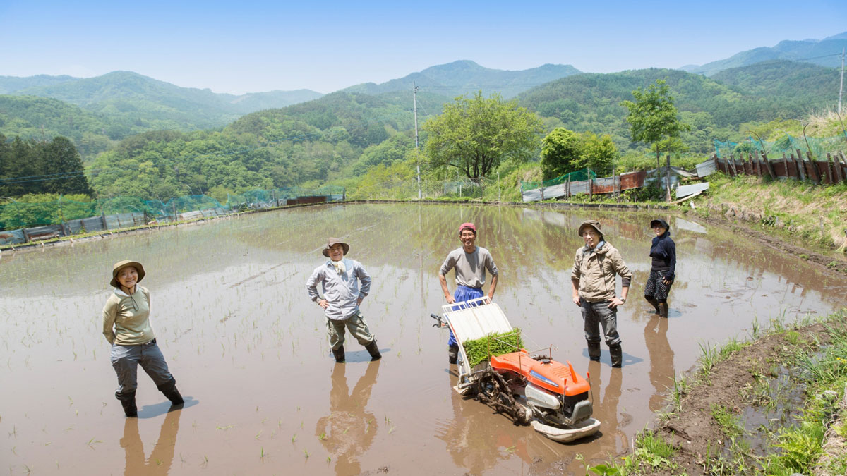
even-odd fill
[[[180,430],[181,408],[175,408],[168,412],[159,430],[156,446],[149,458],[144,457],[144,443],[141,442],[141,434],[138,433],[138,418],[127,418],[124,423],[124,437],[120,439],[120,446],[124,448],[126,456],[125,475],[130,474],[167,474],[171,464],[174,462],[174,447],[176,446],[176,434]]]

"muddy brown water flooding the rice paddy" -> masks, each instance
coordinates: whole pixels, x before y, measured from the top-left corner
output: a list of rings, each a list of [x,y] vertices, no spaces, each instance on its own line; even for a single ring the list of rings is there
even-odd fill
[[[570,302],[576,226],[603,222],[634,270],[618,314],[624,366],[589,364]],[[745,338],[844,305],[847,283],[722,230],[664,217],[678,247],[667,319],[641,298],[650,215],[458,205],[349,205],[261,213],[107,238],[0,260],[0,462],[12,473],[583,473],[628,449],[700,346]],[[561,445],[516,427],[451,385],[446,334],[432,329],[437,271],[458,224],[501,270],[495,301],[537,347],[590,372],[592,440]],[[348,340],[329,357],[304,283],[328,235],[374,278],[363,313],[384,358]],[[139,418],[123,417],[101,335],[112,263],[147,268],[152,326],[185,396],[169,406],[140,372]],[[451,289],[455,285],[451,282]],[[486,286],[487,289],[487,286]],[[757,323],[757,324],[754,324]]]

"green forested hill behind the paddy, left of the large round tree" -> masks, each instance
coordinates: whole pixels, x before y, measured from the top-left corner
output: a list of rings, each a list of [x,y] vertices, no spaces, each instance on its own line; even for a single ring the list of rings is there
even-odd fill
[[[418,119],[446,97],[418,95]],[[147,132],[99,155],[91,185],[102,196],[173,196],[324,182],[401,160],[414,147],[412,93],[335,92],[248,114],[220,131]],[[401,132],[398,132],[401,131]]]

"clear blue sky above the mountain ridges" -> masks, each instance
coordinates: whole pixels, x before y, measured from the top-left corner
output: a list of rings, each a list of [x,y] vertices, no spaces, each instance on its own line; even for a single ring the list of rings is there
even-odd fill
[[[241,94],[495,69],[678,68],[847,31],[840,1],[41,2],[0,0],[0,75],[130,70]]]

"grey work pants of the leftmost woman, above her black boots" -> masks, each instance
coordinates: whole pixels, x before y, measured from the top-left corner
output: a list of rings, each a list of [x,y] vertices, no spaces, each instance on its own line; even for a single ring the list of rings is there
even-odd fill
[[[118,393],[129,393],[138,387],[138,366],[150,375],[153,383],[158,387],[173,379],[174,376],[168,371],[168,363],[164,361],[162,351],[159,350],[156,340],[138,346],[112,345],[111,351],[112,367],[118,374]]]

